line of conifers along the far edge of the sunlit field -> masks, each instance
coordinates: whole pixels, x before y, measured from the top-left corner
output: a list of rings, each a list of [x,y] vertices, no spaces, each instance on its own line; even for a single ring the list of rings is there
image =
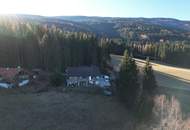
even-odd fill
[[[190,44],[183,42],[110,42],[110,52],[122,55],[127,49],[135,58],[161,61],[181,67],[190,67]]]

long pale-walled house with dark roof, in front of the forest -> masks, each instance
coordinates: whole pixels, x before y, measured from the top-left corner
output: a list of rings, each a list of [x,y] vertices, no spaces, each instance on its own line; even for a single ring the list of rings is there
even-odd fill
[[[104,76],[96,66],[68,67],[67,86],[110,86],[109,76]]]

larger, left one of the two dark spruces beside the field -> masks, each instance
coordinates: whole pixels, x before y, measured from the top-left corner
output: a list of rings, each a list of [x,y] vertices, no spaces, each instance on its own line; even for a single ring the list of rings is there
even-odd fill
[[[135,61],[124,52],[123,62],[119,72],[118,93],[120,99],[128,108],[134,108],[139,90],[138,69]]]

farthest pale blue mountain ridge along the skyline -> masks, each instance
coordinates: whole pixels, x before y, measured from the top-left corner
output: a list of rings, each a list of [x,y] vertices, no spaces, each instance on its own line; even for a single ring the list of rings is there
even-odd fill
[[[56,18],[74,22],[144,22],[160,26],[170,26],[190,31],[190,21],[174,18],[120,18],[120,17],[88,17],[88,16],[57,16]]]

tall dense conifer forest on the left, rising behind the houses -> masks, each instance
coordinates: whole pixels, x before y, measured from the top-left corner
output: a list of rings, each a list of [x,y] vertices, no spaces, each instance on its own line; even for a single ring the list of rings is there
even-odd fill
[[[107,39],[22,20],[0,21],[0,66],[64,70],[102,66],[109,58]]]

